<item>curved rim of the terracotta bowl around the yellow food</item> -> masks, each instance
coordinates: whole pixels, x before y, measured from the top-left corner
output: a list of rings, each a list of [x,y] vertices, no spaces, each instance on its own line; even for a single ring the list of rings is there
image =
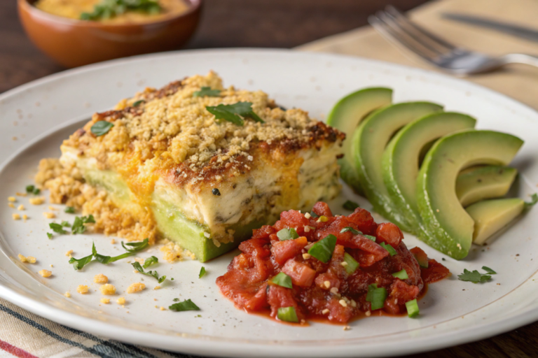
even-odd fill
[[[103,28],[103,27],[116,27],[116,28],[128,28],[128,27],[146,27],[146,26],[153,26],[157,24],[167,24],[169,22],[174,22],[178,19],[181,19],[183,17],[188,17],[189,15],[196,13],[200,10],[200,6],[202,6],[203,0],[184,0],[191,3],[189,6],[190,8],[184,12],[179,13],[177,15],[171,16],[171,17],[165,17],[162,20],[158,21],[149,21],[149,22],[137,22],[137,23],[130,23],[130,24],[104,24],[102,22],[98,21],[88,21],[88,20],[76,20],[71,19],[69,17],[62,17],[58,15],[54,15],[51,13],[47,13],[43,10],[40,10],[39,8],[36,8],[32,3],[36,2],[37,0],[18,0],[18,7],[20,11],[25,11],[32,16],[40,17],[43,20],[47,20],[50,22],[59,22],[61,24],[69,24],[74,27],[95,27],[95,28]]]

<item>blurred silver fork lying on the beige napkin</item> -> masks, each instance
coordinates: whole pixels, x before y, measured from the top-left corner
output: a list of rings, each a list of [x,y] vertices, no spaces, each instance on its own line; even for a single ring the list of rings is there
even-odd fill
[[[392,43],[411,50],[429,64],[450,73],[482,73],[505,64],[530,64],[538,67],[538,57],[532,55],[510,53],[492,57],[457,47],[411,22],[394,6],[387,6],[385,11],[370,15],[368,22]]]

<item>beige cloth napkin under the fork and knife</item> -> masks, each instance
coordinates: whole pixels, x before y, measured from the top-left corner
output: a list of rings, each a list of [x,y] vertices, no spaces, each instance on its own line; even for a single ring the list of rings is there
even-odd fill
[[[439,34],[455,45],[470,50],[490,55],[502,55],[509,52],[538,55],[538,42],[443,19],[441,13],[449,11],[481,15],[538,29],[537,0],[432,1],[416,8],[410,14],[413,20],[426,29]],[[437,71],[411,52],[403,52],[396,48],[371,27],[362,27],[344,34],[322,38],[296,49],[357,55]],[[466,79],[538,109],[538,68],[514,64],[492,73],[468,76]]]

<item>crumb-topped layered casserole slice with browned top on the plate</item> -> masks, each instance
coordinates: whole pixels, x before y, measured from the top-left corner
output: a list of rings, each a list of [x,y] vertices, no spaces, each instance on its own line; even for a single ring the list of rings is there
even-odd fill
[[[344,138],[211,72],[96,113],[59,161],[43,159],[36,182],[95,215],[97,231],[168,238],[205,262],[282,211],[336,196]]]

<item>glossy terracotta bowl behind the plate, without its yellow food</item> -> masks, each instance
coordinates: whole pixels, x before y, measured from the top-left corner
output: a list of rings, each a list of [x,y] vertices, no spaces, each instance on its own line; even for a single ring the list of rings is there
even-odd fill
[[[39,10],[36,0],[18,0],[22,26],[34,44],[67,67],[174,50],[193,35],[202,0],[188,0],[186,13],[142,24],[72,20]]]

